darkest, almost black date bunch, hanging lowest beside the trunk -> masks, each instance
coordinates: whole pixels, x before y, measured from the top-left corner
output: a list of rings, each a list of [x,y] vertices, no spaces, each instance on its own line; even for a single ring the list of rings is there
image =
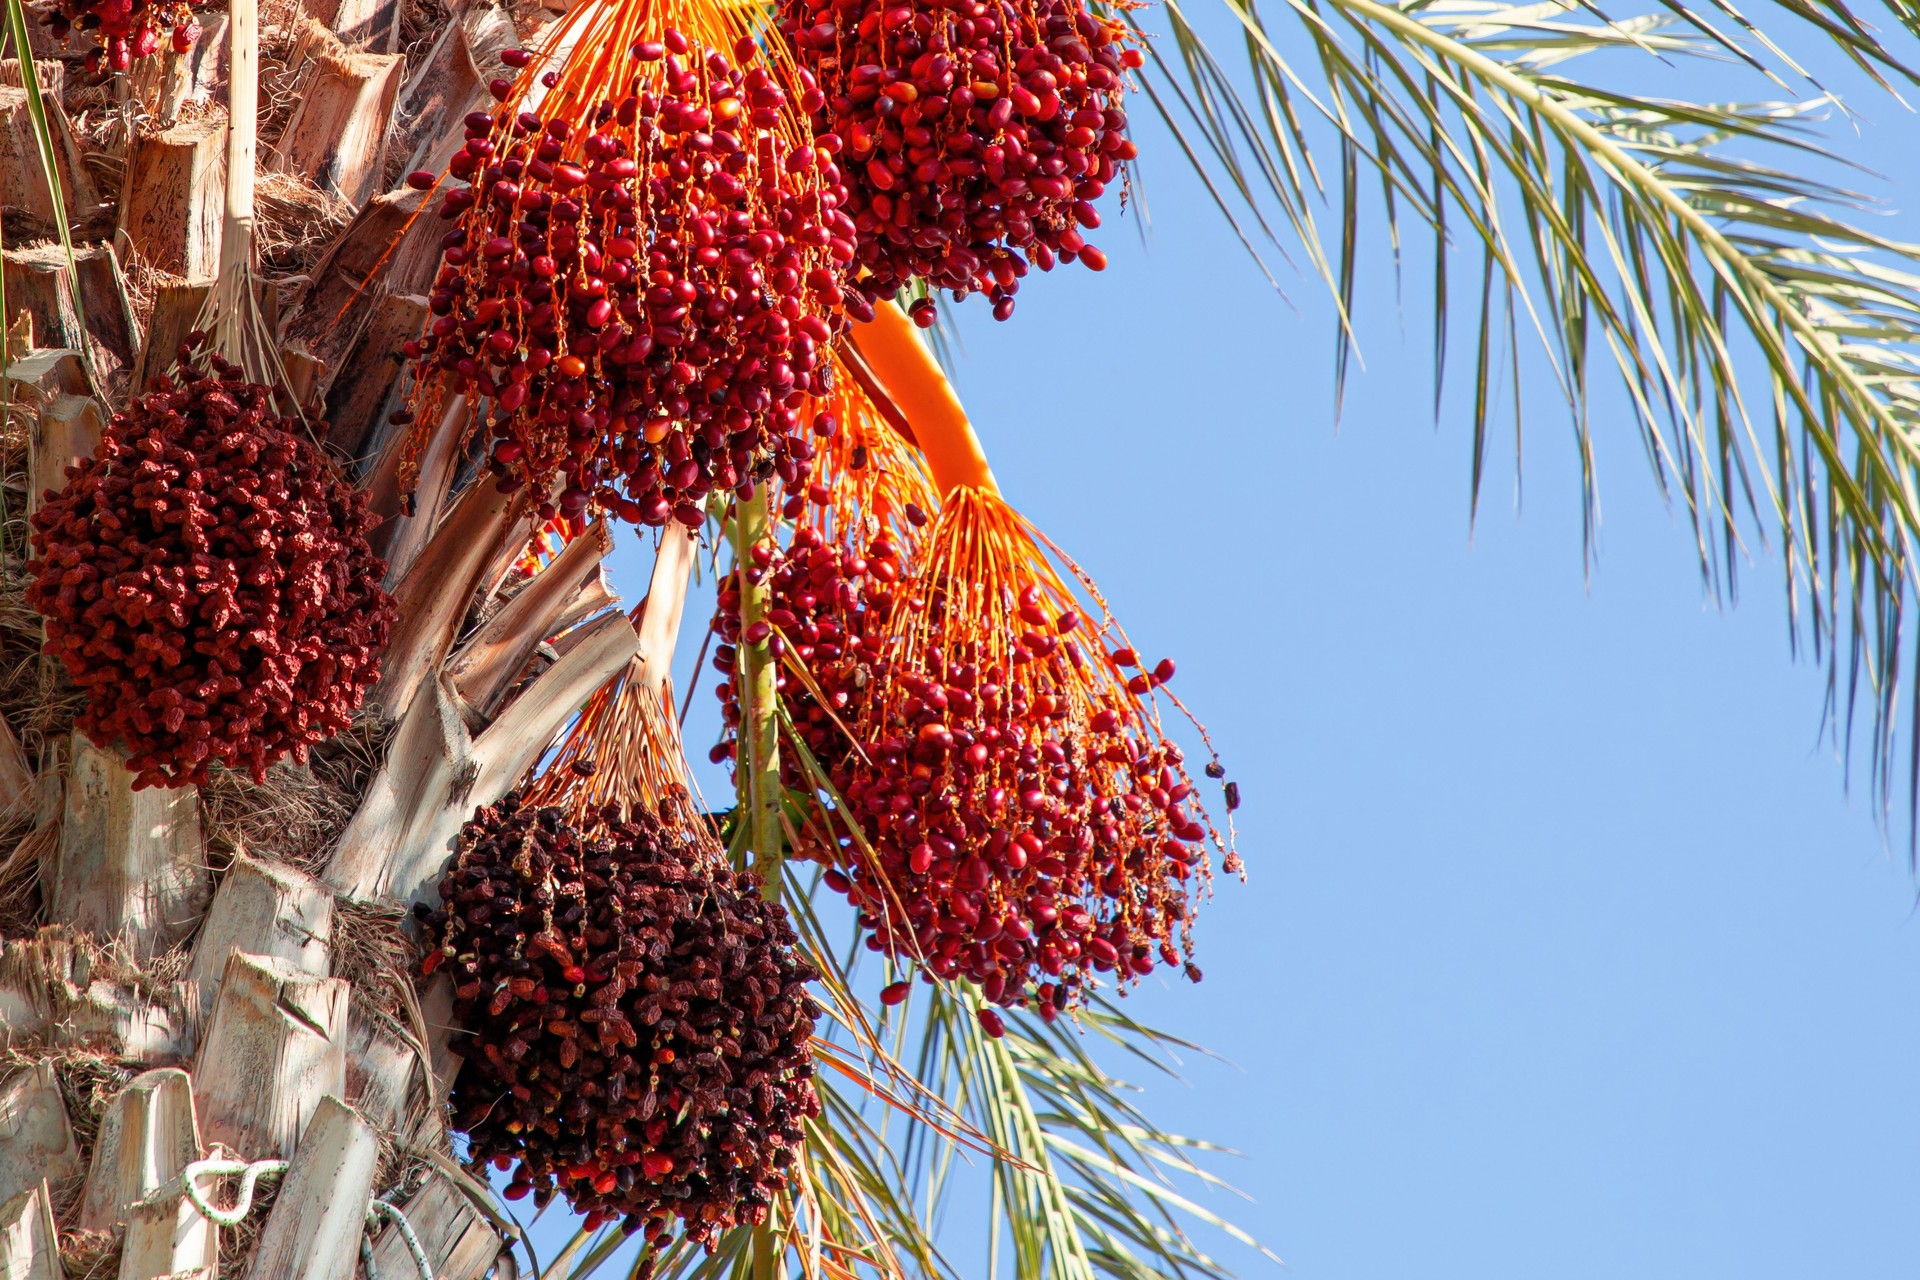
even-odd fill
[[[570,766],[591,770],[591,764]],[[588,1228],[712,1245],[766,1219],[799,1155],[818,975],[751,873],[645,808],[482,808],[417,908],[468,1032],[455,1126],[507,1197],[559,1192]]]

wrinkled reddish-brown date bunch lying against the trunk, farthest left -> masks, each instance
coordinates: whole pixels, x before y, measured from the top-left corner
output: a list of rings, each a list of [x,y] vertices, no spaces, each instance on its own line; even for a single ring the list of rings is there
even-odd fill
[[[269,388],[180,355],[35,510],[27,601],[136,787],[265,781],[348,727],[396,610],[367,495]]]

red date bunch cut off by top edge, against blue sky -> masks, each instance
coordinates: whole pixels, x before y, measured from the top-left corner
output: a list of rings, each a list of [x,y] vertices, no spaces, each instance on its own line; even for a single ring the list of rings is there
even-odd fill
[[[781,29],[826,98],[868,299],[924,280],[1004,320],[1029,263],[1106,267],[1083,228],[1135,157],[1123,27],[1081,0],[783,0]]]

